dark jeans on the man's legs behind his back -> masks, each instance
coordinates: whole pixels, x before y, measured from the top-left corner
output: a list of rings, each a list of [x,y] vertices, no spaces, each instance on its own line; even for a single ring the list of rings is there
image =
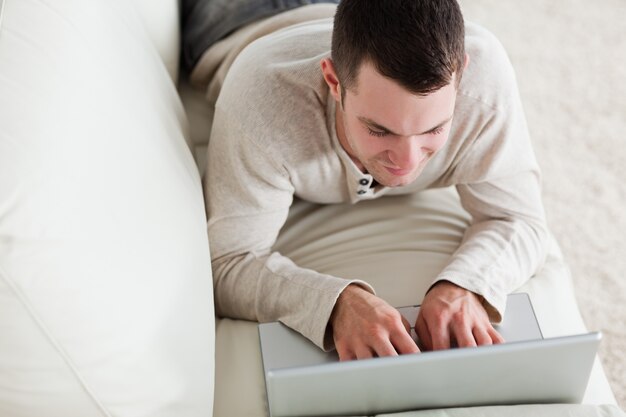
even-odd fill
[[[243,25],[314,3],[340,0],[182,0],[183,65],[191,71],[204,51]]]

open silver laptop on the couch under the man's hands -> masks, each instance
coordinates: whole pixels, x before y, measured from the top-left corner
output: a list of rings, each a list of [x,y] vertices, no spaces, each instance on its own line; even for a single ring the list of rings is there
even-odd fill
[[[414,323],[419,306],[398,309]],[[424,408],[579,403],[600,333],[544,339],[527,294],[496,329],[506,343],[339,362],[282,323],[259,325],[272,417],[371,415]]]

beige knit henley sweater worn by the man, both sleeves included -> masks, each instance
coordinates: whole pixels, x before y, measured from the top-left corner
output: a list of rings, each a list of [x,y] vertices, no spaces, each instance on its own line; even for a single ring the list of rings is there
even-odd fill
[[[259,39],[224,81],[204,180],[217,313],[280,320],[332,348],[328,319],[354,281],[301,268],[272,250],[294,196],[358,203],[456,185],[473,222],[437,280],[481,295],[490,318],[500,321],[506,295],[543,261],[547,235],[539,170],[502,46],[466,25],[470,65],[447,144],[414,183],[370,187],[373,178],[337,139],[335,102],[319,65],[331,32],[332,20],[324,19]]]

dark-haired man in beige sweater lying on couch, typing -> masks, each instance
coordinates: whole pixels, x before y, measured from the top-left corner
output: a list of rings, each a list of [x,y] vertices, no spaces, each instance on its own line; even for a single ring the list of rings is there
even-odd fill
[[[343,0],[334,22],[307,17],[332,15],[320,7],[245,26],[220,42],[270,34],[234,62],[212,46],[192,73],[220,91],[205,178],[218,314],[280,320],[342,360],[418,352],[367,283],[272,245],[294,196],[354,204],[456,185],[472,225],[415,327],[424,349],[502,342],[490,322],[541,264],[546,236],[506,54],[454,0]],[[213,75],[223,61],[225,79]]]

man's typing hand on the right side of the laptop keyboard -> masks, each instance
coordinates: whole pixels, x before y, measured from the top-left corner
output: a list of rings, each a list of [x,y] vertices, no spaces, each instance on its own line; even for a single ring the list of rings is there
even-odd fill
[[[415,331],[425,350],[491,345],[504,339],[489,322],[478,295],[449,281],[435,284],[424,297]]]

